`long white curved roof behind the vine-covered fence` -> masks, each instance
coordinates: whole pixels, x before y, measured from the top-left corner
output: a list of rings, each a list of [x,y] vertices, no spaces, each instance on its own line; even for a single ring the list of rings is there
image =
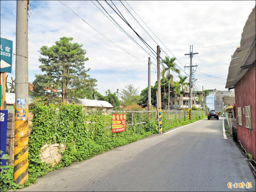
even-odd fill
[[[73,99],[73,98],[68,98],[68,100],[73,100],[76,102],[76,104],[83,105],[84,107],[101,107],[102,106],[106,108],[113,108],[113,106],[107,101],[90,100],[90,99]]]

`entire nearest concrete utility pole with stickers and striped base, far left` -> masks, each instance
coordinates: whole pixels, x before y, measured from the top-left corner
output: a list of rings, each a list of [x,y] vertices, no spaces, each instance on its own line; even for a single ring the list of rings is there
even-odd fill
[[[17,1],[14,182],[28,180],[28,1]]]

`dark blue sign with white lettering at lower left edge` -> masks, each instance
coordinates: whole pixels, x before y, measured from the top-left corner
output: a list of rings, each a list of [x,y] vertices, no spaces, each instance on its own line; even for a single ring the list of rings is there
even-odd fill
[[[6,139],[7,139],[7,120],[8,120],[8,110],[1,110],[0,113],[0,150],[3,151],[1,157],[6,154]],[[6,159],[1,159],[2,165],[6,165]]]

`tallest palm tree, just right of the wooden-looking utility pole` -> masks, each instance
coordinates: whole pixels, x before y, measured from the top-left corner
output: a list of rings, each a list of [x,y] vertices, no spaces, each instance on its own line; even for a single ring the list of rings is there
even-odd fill
[[[167,72],[167,79],[168,79],[168,81],[169,81],[169,99],[168,99],[168,111],[170,111],[170,79],[172,79],[172,81],[171,81],[171,84],[172,84],[172,86],[174,86],[174,84],[173,84],[173,76],[172,76],[172,74],[171,74],[171,71],[172,72],[175,72],[175,73],[178,73],[178,74],[180,74],[180,69],[177,69],[177,65],[176,65],[176,63],[174,62],[176,60],[176,58],[175,57],[172,57],[171,59],[169,58],[169,57],[167,57],[167,56],[165,56],[165,59],[163,60],[161,60],[161,62],[162,63],[164,63],[165,65],[167,65],[167,67],[166,68],[163,68],[163,71],[161,72],[161,75],[164,77],[164,74]]]

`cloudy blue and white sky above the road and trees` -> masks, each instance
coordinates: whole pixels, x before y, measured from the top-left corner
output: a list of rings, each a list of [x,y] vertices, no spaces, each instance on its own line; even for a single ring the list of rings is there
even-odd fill
[[[95,6],[96,4],[100,7],[96,1],[61,2],[66,3],[93,28],[125,51],[106,40],[60,1],[31,0],[28,18],[28,81],[32,82],[35,74],[42,74],[38,61],[40,47],[43,45],[50,47],[63,36],[73,37],[72,42],[83,44],[83,49],[87,51],[86,57],[89,60],[85,62],[85,68],[91,68],[88,74],[98,80],[96,88],[102,95],[108,89],[111,92],[116,92],[116,89],[121,90],[125,84],[133,84],[139,91],[146,88],[148,57],[151,57],[153,62],[151,85],[154,86],[157,80],[154,53],[157,44],[162,49],[160,56],[162,58],[175,56],[177,65],[187,74],[189,74],[188,68],[184,66],[189,65],[190,59],[184,54],[189,53],[189,46],[193,45],[193,52],[199,53],[193,57],[193,65],[198,65],[194,68],[196,71],[194,78],[197,79],[195,87],[200,90],[202,86],[204,89],[226,90],[231,55],[240,45],[243,27],[255,6],[255,1],[122,1],[156,41],[155,43],[119,1],[112,1],[132,28],[153,48],[154,51],[151,50],[153,52],[151,53],[108,4],[100,1],[116,22],[140,46],[150,52],[148,54]],[[111,1],[107,2],[113,6]],[[104,12],[102,8],[101,10]],[[0,13],[0,35],[13,41],[15,53],[16,1],[1,1]],[[8,75],[9,82],[11,76],[15,78],[15,57],[13,73]],[[181,75],[186,74],[182,72]],[[177,76],[174,80],[178,80]]]

